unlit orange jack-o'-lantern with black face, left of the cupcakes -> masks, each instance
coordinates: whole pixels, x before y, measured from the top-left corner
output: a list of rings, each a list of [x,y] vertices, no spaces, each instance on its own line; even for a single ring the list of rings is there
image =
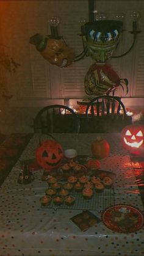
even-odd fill
[[[59,166],[63,159],[63,148],[57,141],[43,141],[37,147],[35,155],[38,164],[44,169],[50,170]]]

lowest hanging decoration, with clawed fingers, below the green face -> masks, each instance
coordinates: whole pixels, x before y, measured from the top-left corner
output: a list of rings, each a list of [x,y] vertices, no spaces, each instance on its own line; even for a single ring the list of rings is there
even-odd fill
[[[89,95],[103,95],[125,84],[128,93],[128,80],[120,79],[117,73],[107,64],[92,64],[85,75],[85,92]],[[124,89],[123,89],[124,90]]]

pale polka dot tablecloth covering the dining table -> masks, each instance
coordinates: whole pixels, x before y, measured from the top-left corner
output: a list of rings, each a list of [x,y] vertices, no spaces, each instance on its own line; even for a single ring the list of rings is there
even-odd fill
[[[90,145],[97,136],[107,139],[110,154],[100,163],[101,169],[117,175],[115,204],[132,205],[143,211],[134,170],[120,143],[120,134],[53,135],[64,150],[74,148],[78,155],[91,155]],[[44,139],[50,137],[42,135],[41,140]],[[144,255],[143,228],[134,233],[117,233],[101,221],[82,232],[70,220],[82,210],[41,208],[39,199],[48,187],[41,181],[43,170],[34,172],[31,184],[17,183],[20,160],[34,158],[38,145],[38,134],[34,134],[1,186],[0,255]],[[101,218],[97,209],[92,213]]]

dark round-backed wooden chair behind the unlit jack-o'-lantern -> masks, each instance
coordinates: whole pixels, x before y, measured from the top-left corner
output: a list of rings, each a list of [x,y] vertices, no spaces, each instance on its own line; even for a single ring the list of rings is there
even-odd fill
[[[79,117],[73,109],[53,104],[42,108],[34,119],[34,133],[79,133]]]

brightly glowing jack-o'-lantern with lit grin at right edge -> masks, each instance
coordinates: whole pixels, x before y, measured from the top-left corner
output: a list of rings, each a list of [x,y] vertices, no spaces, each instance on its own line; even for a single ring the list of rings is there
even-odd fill
[[[141,155],[144,147],[144,126],[140,124],[127,125],[121,132],[123,147],[132,155]]]

